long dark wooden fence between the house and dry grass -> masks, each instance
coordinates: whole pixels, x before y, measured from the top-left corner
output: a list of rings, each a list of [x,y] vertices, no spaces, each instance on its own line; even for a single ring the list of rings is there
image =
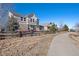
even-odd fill
[[[45,35],[50,34],[51,32],[4,32],[0,33],[0,40],[6,39],[6,38],[12,38],[12,37],[23,37],[23,36],[39,36],[39,35]]]

